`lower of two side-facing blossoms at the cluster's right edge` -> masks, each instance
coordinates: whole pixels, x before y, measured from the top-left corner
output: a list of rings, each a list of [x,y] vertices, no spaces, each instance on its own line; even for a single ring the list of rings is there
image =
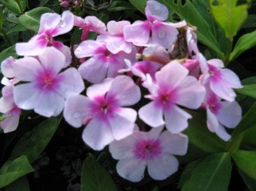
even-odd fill
[[[207,111],[207,127],[216,133],[224,141],[228,141],[231,136],[226,132],[225,127],[236,127],[242,118],[242,109],[236,101],[223,102],[210,89],[205,98]]]

